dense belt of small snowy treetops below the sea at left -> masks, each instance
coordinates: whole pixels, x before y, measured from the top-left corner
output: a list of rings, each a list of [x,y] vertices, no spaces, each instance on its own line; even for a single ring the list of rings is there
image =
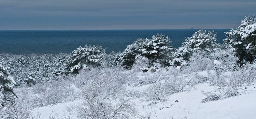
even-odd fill
[[[0,55],[17,85],[49,81],[66,71],[68,54]]]

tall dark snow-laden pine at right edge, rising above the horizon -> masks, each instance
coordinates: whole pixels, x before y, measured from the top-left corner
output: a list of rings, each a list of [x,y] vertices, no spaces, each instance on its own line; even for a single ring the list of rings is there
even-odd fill
[[[239,62],[252,63],[256,55],[256,17],[248,16],[241,21],[241,25],[236,29],[226,32],[224,42],[236,49]],[[245,62],[244,62],[245,61]]]

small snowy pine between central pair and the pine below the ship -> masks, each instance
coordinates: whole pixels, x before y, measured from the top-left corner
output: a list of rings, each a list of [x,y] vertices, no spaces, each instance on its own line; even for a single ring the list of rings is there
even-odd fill
[[[191,48],[189,47],[179,47],[179,49],[176,49],[176,52],[173,53],[173,61],[172,65],[174,66],[186,66],[188,65],[188,61],[190,56],[192,55]]]

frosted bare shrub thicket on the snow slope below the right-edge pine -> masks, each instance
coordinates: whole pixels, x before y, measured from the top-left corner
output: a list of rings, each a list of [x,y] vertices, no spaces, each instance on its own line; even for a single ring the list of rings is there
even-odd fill
[[[245,93],[246,87],[256,82],[256,69],[246,63],[237,71],[213,71],[209,73],[209,85],[215,87],[213,92],[203,92],[206,96],[202,102],[214,101]]]

